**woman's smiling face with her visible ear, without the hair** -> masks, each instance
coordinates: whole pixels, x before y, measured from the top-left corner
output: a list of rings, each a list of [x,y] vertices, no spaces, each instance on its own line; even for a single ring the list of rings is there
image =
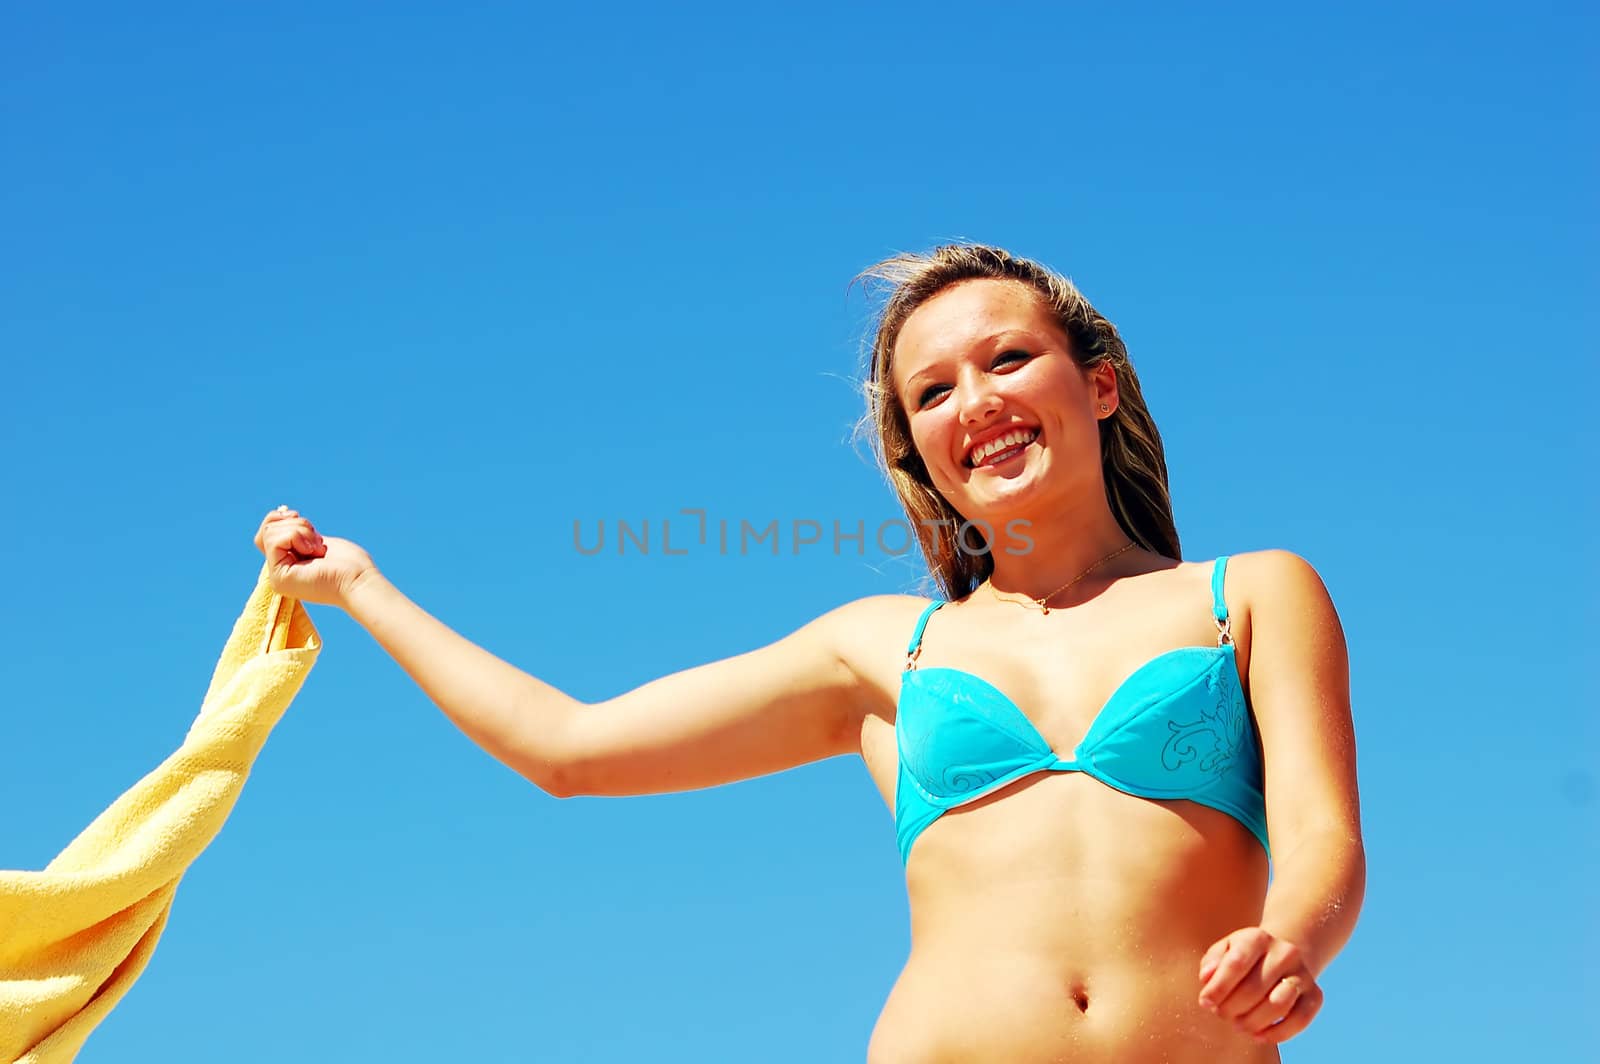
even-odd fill
[[[1099,483],[1109,363],[1083,371],[1021,282],[968,280],[917,307],[894,342],[894,390],[933,486],[968,520],[1010,520]],[[997,523],[998,528],[998,523]]]

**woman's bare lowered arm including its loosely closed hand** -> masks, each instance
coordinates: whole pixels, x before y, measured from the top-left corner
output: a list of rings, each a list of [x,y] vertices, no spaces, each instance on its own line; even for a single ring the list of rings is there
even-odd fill
[[[1349,941],[1366,890],[1350,664],[1317,570],[1288,550],[1245,555],[1250,702],[1266,762],[1272,886],[1261,925],[1218,941],[1200,1003],[1269,1042],[1306,1029],[1317,978]]]

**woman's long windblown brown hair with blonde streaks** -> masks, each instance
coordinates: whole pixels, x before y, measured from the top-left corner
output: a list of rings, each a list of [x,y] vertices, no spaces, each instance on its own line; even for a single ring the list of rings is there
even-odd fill
[[[856,277],[867,286],[874,282],[890,286],[877,314],[862,427],[870,419],[874,451],[906,509],[939,589],[947,598],[971,594],[994,571],[994,555],[981,528],[966,526],[957,542],[955,530],[963,526],[965,518],[933,486],[928,467],[912,443],[906,410],[894,394],[891,362],[894,342],[912,310],[950,285],[978,278],[1021,282],[1038,293],[1067,334],[1072,360],[1082,370],[1110,362],[1117,374],[1118,405],[1099,422],[1106,501],[1130,539],[1146,550],[1182,558],[1162,437],[1117,328],[1090,306],[1072,282],[1038,262],[986,245],[946,245],[928,254],[896,254]]]

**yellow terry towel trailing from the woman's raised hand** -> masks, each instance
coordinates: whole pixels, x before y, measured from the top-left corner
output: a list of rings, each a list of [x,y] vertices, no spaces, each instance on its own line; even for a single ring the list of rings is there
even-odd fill
[[[155,952],[178,880],[210,845],[322,640],[267,566],[176,754],[43,872],[0,870],[0,1061],[62,1064]]]

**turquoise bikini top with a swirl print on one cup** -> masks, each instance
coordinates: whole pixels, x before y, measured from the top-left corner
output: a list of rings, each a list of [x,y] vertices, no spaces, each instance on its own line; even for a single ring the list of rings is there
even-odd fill
[[[1222,573],[1211,570],[1216,646],[1179,646],[1134,669],[1101,707],[1072,750],[1056,755],[1038,730],[992,683],[962,669],[917,667],[922,630],[934,600],[917,618],[901,672],[894,741],[899,782],[894,827],[901,859],[946,810],[1040,771],[1086,773],[1141,798],[1184,798],[1235,818],[1266,848],[1261,742],[1240,690]]]

